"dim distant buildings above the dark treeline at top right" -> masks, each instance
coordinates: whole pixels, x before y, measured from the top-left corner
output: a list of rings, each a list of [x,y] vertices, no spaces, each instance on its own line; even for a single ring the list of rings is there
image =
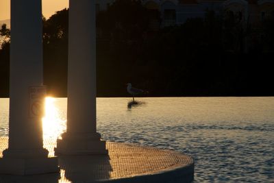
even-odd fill
[[[97,0],[97,12],[107,10],[114,0]],[[160,12],[161,23],[151,19],[151,28],[181,25],[190,18],[203,18],[207,10],[216,14],[232,11],[240,13],[242,21],[258,25],[267,16],[274,16],[274,0],[142,0],[143,5],[151,10],[151,17]]]

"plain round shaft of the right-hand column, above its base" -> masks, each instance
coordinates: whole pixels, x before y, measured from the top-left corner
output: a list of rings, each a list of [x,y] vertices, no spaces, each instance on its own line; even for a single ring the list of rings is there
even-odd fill
[[[71,0],[67,132],[96,132],[95,39],[95,1]]]

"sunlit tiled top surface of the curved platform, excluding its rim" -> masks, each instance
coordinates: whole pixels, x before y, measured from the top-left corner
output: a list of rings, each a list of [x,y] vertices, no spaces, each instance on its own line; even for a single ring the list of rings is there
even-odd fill
[[[56,139],[47,138],[44,147],[54,155]],[[108,156],[60,156],[59,183],[116,180],[138,175],[153,175],[192,166],[190,156],[175,151],[139,145],[107,142]],[[0,151],[8,147],[8,137],[0,137]],[[2,154],[0,154],[2,156]]]

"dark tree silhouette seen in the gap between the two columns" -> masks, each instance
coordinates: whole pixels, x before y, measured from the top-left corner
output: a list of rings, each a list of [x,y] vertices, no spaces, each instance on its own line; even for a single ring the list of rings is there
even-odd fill
[[[68,32],[68,9],[43,19],[44,84],[50,95],[66,95]]]

